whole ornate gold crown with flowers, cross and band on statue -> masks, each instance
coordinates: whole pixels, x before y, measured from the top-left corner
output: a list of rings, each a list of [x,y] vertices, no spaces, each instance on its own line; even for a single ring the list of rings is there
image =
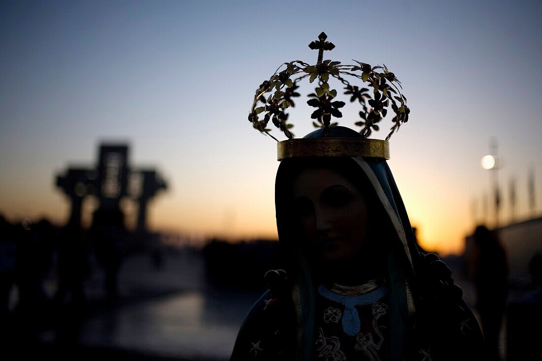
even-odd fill
[[[326,41],[327,35],[321,33],[317,41],[309,44],[309,48],[318,49],[318,62],[309,65],[301,60],[283,63],[269,80],[263,81],[256,89],[254,102],[248,115],[253,127],[279,141],[270,134],[269,121],[282,131],[288,140],[279,142],[279,160],[295,156],[359,156],[389,158],[388,140],[401,124],[409,118],[410,109],[406,106],[406,98],[401,93],[401,82],[385,66],[373,66],[354,60],[358,65],[342,65],[339,61],[323,60],[324,50],[332,50],[333,43]],[[379,72],[380,70],[381,72]],[[349,78],[350,77],[350,78]],[[288,115],[285,111],[294,107],[293,98],[300,94],[297,91],[298,83],[308,78],[309,82],[318,79],[318,86],[314,93],[308,94],[307,101],[315,111],[311,118],[316,128],[321,128],[321,138],[293,139],[291,132],[293,124],[288,124]],[[337,89],[330,86],[330,78],[335,78],[343,85],[344,94],[350,96],[350,102],[357,102],[362,110],[359,112],[360,120],[355,124],[362,127],[359,136],[355,138],[331,138],[330,127],[338,123],[331,123],[332,117],[342,118],[339,110],[345,106],[344,101],[334,100]],[[349,80],[355,80],[360,85],[352,85]],[[364,87],[366,83],[366,87]],[[372,92],[371,92],[372,88]],[[267,95],[269,93],[269,95]],[[371,96],[372,93],[372,96]],[[267,96],[267,97],[266,97]],[[393,126],[385,140],[368,139],[372,130],[378,131],[378,123],[388,115],[391,107],[395,116],[392,118]],[[260,115],[263,113],[263,119]],[[307,151],[310,149],[309,151]]]

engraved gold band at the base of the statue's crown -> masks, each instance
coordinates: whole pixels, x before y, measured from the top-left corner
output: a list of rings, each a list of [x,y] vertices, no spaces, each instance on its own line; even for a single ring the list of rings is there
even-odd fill
[[[390,143],[362,138],[300,138],[278,143],[278,160],[292,157],[374,157],[390,159]]]

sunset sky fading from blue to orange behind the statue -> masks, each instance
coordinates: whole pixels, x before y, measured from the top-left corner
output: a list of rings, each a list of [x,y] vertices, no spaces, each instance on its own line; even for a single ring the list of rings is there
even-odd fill
[[[529,169],[542,214],[541,16],[535,1],[3,1],[0,213],[63,224],[55,176],[94,165],[101,141],[128,141],[130,163],[169,184],[150,205],[152,230],[276,237],[276,142],[247,115],[281,63],[316,62],[307,45],[325,31],[336,46],[325,59],[384,63],[402,82],[411,113],[390,167],[422,244],[460,253],[489,194],[491,137],[501,224],[512,177],[516,220],[533,215]],[[313,129],[300,90],[296,137]],[[353,127],[359,109],[344,109],[339,124]]]

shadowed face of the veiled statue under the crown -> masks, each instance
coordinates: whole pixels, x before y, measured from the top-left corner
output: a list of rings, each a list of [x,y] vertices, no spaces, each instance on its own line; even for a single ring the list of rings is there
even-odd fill
[[[330,169],[305,169],[294,179],[294,214],[303,236],[329,261],[356,257],[367,234],[367,205],[349,179]]]

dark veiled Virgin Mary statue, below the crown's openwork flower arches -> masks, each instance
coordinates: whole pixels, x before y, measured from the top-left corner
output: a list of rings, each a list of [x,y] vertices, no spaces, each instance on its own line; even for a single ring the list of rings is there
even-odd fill
[[[231,360],[479,359],[478,322],[450,269],[417,246],[387,142],[342,126],[285,142],[275,208],[286,269],[266,274]]]

